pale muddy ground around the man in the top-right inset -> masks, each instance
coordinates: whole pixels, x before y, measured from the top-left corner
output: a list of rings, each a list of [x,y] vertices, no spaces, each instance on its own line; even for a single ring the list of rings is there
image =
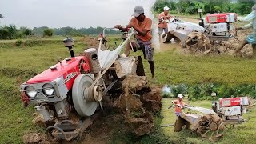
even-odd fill
[[[180,19],[182,19],[183,21],[186,21],[186,22],[198,23],[198,19],[193,19],[193,18],[180,18]],[[179,49],[181,47],[179,43],[175,43],[175,42],[163,43],[163,39],[159,38],[158,18],[154,18],[154,20],[153,20],[152,35],[153,35],[152,41],[153,41],[153,46],[154,46],[155,52]]]

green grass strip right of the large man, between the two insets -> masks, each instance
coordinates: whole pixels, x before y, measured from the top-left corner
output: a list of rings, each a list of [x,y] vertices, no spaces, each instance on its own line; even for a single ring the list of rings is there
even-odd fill
[[[140,54],[138,54],[140,55]],[[154,54],[155,84],[256,83],[256,61],[231,56],[198,56],[178,54],[175,50]],[[149,64],[144,61],[146,75]]]

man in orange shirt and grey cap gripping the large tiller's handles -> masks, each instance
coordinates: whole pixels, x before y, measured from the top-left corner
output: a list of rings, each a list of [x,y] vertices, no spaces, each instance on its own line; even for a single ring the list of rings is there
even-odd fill
[[[142,6],[135,6],[134,14],[132,15],[134,18],[131,18],[128,26],[122,27],[121,25],[114,26],[115,28],[128,31],[130,28],[134,28],[135,30],[135,41],[131,42],[133,46],[134,52],[137,50],[142,50],[144,54],[144,58],[150,64],[150,70],[152,74],[152,78],[154,78],[154,48],[152,47],[152,35],[151,35],[151,26],[152,20],[150,18],[146,18],[144,15],[144,9]],[[125,54],[126,57],[129,56],[131,50],[130,43],[127,44]]]

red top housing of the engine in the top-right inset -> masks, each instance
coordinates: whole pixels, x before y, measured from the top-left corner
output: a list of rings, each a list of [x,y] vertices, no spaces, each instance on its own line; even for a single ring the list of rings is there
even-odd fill
[[[206,22],[208,23],[222,23],[222,22],[235,22],[235,21],[237,21],[237,14],[235,13],[206,15]]]

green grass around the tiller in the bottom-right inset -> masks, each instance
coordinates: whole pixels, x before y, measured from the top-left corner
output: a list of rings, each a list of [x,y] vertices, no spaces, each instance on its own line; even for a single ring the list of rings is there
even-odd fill
[[[169,98],[162,99],[162,112],[161,115],[164,117],[162,119],[161,125],[174,124],[176,116],[174,115],[174,109],[168,109],[171,106],[171,100]],[[187,101],[185,101],[187,102]],[[200,102],[190,102],[192,106],[202,106],[210,108],[210,101],[200,101]],[[185,110],[187,111],[187,110]],[[241,125],[236,125],[233,128],[226,129],[224,136],[219,144],[228,144],[228,143],[254,143],[256,138],[253,135],[256,133],[255,129],[255,118],[256,118],[256,107],[254,106],[247,114],[244,115],[244,118],[248,118],[250,114],[250,121],[244,122]],[[202,141],[201,137],[198,134],[193,133],[191,130],[182,130],[181,132],[174,132],[174,127],[163,127],[163,134],[170,138],[170,141],[173,143],[212,143],[208,140]]]

